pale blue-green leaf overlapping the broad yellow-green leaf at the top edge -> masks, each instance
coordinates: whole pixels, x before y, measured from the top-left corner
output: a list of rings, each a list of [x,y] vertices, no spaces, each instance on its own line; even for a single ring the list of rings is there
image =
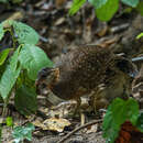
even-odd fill
[[[88,0],[96,9],[101,8],[108,0]]]

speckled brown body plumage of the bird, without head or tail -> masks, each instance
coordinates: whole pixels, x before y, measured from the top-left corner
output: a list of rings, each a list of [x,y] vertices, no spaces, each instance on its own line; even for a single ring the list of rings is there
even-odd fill
[[[109,48],[79,46],[67,53],[56,67],[59,79],[53,84],[53,92],[63,99],[73,99],[89,92],[103,81],[106,68],[111,66],[113,54]]]

